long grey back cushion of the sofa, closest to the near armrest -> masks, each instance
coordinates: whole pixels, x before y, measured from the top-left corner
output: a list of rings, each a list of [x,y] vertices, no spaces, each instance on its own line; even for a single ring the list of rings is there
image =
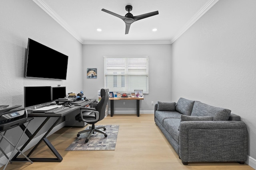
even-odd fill
[[[212,116],[214,121],[226,121],[231,110],[210,106],[199,101],[195,101],[191,116]]]

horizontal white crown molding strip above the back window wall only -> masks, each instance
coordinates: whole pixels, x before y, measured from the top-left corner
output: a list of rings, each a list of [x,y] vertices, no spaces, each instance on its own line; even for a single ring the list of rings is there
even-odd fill
[[[148,40],[148,41],[84,41],[82,44],[171,44],[169,40]]]

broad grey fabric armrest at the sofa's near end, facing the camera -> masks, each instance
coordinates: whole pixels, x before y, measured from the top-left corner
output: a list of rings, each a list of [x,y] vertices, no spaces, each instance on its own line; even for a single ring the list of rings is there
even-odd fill
[[[242,121],[180,122],[182,162],[244,162],[248,132]]]

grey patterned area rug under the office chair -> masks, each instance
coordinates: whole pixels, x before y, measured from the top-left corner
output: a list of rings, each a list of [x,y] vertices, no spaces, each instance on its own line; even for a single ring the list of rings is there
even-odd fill
[[[107,137],[102,133],[96,132],[92,134],[88,143],[85,143],[89,132],[81,133],[80,137],[77,137],[66,150],[115,150],[119,125],[98,126],[106,126]]]

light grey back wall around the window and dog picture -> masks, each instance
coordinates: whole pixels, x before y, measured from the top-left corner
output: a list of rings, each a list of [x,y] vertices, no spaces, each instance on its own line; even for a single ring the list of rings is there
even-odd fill
[[[97,91],[104,88],[104,56],[148,56],[149,94],[144,95],[140,106],[141,113],[153,113],[157,101],[170,101],[171,97],[171,45],[83,45],[83,90],[86,96],[97,98]],[[97,79],[86,78],[87,68],[97,68]],[[136,101],[114,102],[115,113],[135,113]],[[119,112],[120,113],[120,112]]]

